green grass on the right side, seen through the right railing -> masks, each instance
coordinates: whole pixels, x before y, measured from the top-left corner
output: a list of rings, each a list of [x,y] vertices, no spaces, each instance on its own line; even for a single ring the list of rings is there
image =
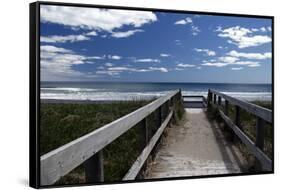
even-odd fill
[[[253,101],[251,102],[253,104],[256,104],[258,106],[272,109],[272,104],[270,101]],[[224,106],[221,106],[221,109],[224,110]],[[209,109],[208,115],[210,119],[215,119],[218,122],[222,123],[222,119],[219,116],[219,113],[216,109]],[[232,121],[235,121],[235,106],[229,104],[229,118]],[[254,116],[251,113],[248,113],[247,111],[240,109],[240,120],[241,120],[241,129],[242,131],[253,141],[256,141],[256,116]],[[272,133],[272,124],[266,123],[265,126],[265,146],[264,146],[264,152],[269,157],[272,158],[272,142],[273,142],[273,133]],[[231,130],[228,128],[224,128],[224,131],[226,132],[226,136],[231,136]],[[253,163],[254,155],[252,155],[248,148],[240,141],[236,141],[238,147],[244,154],[245,158],[248,160],[248,162]]]

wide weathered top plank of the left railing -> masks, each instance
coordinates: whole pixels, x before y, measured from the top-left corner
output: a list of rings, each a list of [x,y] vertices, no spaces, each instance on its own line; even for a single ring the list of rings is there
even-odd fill
[[[41,185],[55,183],[60,177],[69,173],[120,135],[128,131],[167,100],[174,97],[178,92],[177,90],[160,97],[128,115],[41,156]]]

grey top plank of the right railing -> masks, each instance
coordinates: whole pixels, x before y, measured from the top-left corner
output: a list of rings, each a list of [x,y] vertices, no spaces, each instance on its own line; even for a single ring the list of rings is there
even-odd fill
[[[231,104],[237,105],[241,107],[242,109],[245,109],[246,111],[259,116],[260,118],[264,119],[265,121],[272,123],[272,111],[270,109],[243,101],[239,100],[237,98],[233,98],[231,96],[228,96],[226,94],[223,94],[221,92],[215,91],[215,90],[210,90],[210,92],[217,94],[224,98],[225,100],[228,100]]]

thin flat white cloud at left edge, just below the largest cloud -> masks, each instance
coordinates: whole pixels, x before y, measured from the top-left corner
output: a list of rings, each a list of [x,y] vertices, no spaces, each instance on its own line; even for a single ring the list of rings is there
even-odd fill
[[[65,42],[78,42],[89,40],[90,38],[84,35],[68,35],[68,36],[41,36],[40,42],[45,43],[65,43]]]

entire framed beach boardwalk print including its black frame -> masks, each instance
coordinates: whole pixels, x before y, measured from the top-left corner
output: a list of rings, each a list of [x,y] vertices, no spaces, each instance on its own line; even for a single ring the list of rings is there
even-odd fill
[[[274,172],[272,16],[30,4],[30,186]]]

